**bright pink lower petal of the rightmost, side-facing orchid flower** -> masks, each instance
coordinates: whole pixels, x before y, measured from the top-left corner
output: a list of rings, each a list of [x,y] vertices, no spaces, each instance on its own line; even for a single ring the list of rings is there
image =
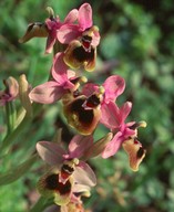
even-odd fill
[[[120,149],[122,142],[123,142],[122,132],[119,131],[113,137],[113,139],[106,145],[106,147],[102,153],[102,158],[109,158],[111,156],[114,156],[116,153],[116,151]]]

